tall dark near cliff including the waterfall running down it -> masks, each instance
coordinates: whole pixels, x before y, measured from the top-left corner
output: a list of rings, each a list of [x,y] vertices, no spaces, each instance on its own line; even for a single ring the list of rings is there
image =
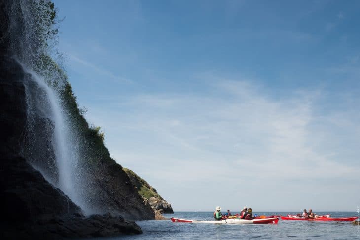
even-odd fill
[[[139,234],[139,226],[125,219],[154,219],[153,206],[110,158],[104,136],[89,127],[66,74],[47,54],[55,16],[48,0],[0,1],[3,234]]]

